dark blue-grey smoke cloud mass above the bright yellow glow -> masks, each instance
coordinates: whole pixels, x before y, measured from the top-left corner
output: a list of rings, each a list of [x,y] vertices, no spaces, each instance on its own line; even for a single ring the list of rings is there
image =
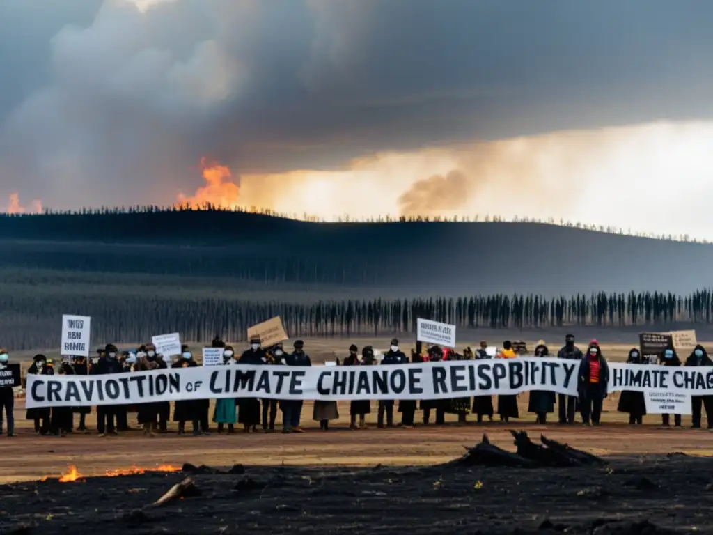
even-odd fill
[[[0,193],[167,203],[204,154],[262,172],[707,117],[711,27],[704,0],[6,0]]]

